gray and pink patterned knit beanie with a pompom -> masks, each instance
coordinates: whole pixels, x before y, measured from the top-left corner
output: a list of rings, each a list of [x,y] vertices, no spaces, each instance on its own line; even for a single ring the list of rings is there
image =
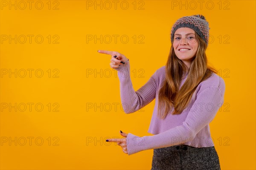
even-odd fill
[[[193,29],[208,45],[209,41],[209,23],[201,14],[181,17],[172,26],[171,40],[173,42],[174,33],[178,28],[188,27]]]

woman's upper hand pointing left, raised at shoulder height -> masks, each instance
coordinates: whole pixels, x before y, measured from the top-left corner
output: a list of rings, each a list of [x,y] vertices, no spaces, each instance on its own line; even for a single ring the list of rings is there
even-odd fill
[[[110,66],[111,68],[118,68],[119,65],[125,64],[129,59],[125,55],[116,51],[98,50],[99,53],[111,55]]]

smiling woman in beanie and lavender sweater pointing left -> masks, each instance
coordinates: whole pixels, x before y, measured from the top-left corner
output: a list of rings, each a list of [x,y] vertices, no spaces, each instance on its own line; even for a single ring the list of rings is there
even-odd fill
[[[202,15],[181,17],[172,27],[169,57],[143,87],[134,91],[130,61],[116,51],[111,68],[118,71],[125,113],[133,113],[155,100],[148,132],[154,136],[120,134],[117,142],[128,155],[154,149],[151,170],[220,170],[209,123],[224,102],[225,83],[207,65],[205,51],[209,24]]]

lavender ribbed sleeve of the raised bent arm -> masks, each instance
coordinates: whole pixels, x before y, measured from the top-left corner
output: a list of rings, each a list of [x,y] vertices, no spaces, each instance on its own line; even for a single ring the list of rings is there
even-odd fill
[[[156,96],[157,82],[156,72],[139,90],[134,91],[130,76],[130,61],[115,68],[120,82],[120,96],[125,113],[134,113],[145,105],[148,105]]]

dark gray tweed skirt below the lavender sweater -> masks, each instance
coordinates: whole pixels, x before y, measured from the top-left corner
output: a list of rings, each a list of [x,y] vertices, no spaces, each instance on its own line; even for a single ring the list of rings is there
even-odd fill
[[[175,145],[154,149],[151,170],[221,170],[215,147]]]

